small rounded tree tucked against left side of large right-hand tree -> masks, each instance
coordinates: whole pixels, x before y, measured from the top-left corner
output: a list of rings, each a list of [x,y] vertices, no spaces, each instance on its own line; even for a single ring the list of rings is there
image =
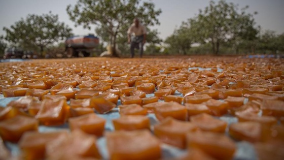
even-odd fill
[[[183,22],[180,28],[175,29],[173,34],[166,38],[165,43],[167,43],[173,51],[186,55],[193,43],[189,24]]]

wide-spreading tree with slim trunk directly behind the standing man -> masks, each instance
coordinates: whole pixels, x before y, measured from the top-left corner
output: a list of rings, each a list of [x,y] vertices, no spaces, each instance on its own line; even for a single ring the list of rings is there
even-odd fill
[[[98,36],[109,41],[114,48],[118,37],[126,37],[127,28],[135,17],[149,27],[160,24],[157,16],[162,12],[155,10],[152,2],[140,0],[78,0],[74,7],[68,5],[66,11],[76,25],[90,28],[95,24]],[[118,54],[114,52],[113,56]]]

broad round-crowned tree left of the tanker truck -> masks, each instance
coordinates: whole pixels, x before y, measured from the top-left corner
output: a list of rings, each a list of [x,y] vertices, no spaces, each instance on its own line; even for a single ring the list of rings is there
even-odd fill
[[[35,15],[29,14],[26,19],[21,19],[11,25],[6,31],[5,39],[11,43],[26,47],[40,47],[41,56],[44,48],[59,40],[64,40],[72,36],[72,29],[64,22],[58,21],[58,15],[51,12],[49,14]]]

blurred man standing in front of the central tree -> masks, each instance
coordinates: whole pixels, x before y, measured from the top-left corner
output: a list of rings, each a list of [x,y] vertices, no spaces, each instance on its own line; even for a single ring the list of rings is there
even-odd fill
[[[132,38],[131,38],[132,34]],[[146,28],[135,18],[127,30],[128,44],[130,43],[131,58],[134,57],[134,48],[139,49],[140,57],[143,55],[143,45],[146,43]]]

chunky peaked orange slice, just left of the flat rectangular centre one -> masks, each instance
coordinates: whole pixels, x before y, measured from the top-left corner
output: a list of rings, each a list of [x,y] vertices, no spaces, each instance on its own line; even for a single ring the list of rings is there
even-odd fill
[[[101,137],[104,132],[105,119],[97,116],[95,113],[69,118],[69,127],[71,131],[80,129],[85,133]]]

